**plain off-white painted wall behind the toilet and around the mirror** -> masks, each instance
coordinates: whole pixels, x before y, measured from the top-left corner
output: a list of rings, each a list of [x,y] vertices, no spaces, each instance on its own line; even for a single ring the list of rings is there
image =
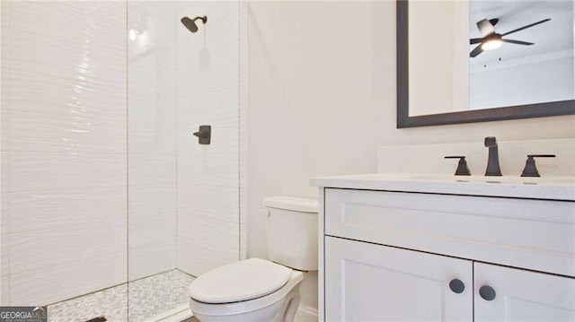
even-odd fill
[[[575,137],[573,116],[397,129],[394,2],[250,2],[248,14],[249,257],[267,257],[264,196],[376,172],[377,145]],[[308,281],[302,303],[315,296]]]

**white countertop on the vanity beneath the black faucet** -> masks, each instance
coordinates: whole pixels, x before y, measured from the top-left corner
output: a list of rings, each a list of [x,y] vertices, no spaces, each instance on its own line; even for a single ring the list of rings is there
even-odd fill
[[[575,201],[575,178],[371,173],[311,178],[314,187]]]

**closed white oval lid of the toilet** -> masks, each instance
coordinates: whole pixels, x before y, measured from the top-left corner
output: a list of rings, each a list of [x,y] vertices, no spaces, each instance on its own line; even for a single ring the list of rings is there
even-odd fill
[[[278,291],[292,270],[260,258],[217,267],[190,285],[190,296],[204,303],[252,300]]]

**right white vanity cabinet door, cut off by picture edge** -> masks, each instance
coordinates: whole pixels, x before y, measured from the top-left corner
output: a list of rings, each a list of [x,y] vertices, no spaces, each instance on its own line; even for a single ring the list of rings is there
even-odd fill
[[[575,321],[574,278],[482,263],[473,267],[476,322]]]

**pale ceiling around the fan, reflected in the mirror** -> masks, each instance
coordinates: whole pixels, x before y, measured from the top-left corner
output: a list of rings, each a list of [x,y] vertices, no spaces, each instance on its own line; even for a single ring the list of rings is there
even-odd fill
[[[534,42],[532,46],[521,46],[509,43],[495,50],[484,51],[478,57],[470,58],[471,66],[487,65],[511,59],[534,57],[571,50],[573,55],[573,0],[552,1],[482,1],[469,2],[469,36],[481,38],[476,23],[482,19],[498,18],[495,32],[503,34],[527,24],[544,22],[532,28],[517,31],[504,36],[503,39],[515,39]],[[469,51],[477,45],[469,47]]]

